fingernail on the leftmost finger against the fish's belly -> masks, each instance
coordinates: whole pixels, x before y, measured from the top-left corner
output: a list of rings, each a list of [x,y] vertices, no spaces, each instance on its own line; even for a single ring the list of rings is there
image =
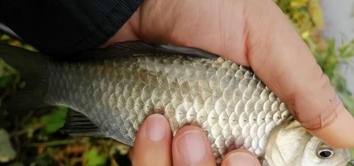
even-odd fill
[[[146,119],[146,135],[150,141],[160,141],[166,135],[165,117],[153,114]]]

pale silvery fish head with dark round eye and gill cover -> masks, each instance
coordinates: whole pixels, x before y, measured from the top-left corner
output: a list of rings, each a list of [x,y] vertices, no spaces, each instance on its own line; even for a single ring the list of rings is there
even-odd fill
[[[270,133],[264,159],[268,165],[334,166],[345,165],[350,153],[326,145],[291,119]]]

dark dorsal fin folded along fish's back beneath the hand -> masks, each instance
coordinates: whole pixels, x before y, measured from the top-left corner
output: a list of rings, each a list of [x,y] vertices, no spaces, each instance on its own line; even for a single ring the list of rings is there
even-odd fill
[[[108,49],[121,51],[131,55],[148,54],[148,53],[151,54],[172,53],[172,54],[183,54],[190,57],[206,58],[206,59],[214,59],[219,57],[215,54],[197,48],[178,47],[171,44],[147,44],[139,40],[114,43],[113,45],[110,45]]]

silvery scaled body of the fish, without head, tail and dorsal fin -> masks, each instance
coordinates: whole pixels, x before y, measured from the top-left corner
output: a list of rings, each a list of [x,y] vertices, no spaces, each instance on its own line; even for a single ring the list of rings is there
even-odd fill
[[[218,162],[236,148],[262,156],[269,132],[290,116],[249,68],[223,58],[141,55],[48,66],[48,103],[82,112],[129,145],[148,115],[163,113],[174,134],[202,127]]]

